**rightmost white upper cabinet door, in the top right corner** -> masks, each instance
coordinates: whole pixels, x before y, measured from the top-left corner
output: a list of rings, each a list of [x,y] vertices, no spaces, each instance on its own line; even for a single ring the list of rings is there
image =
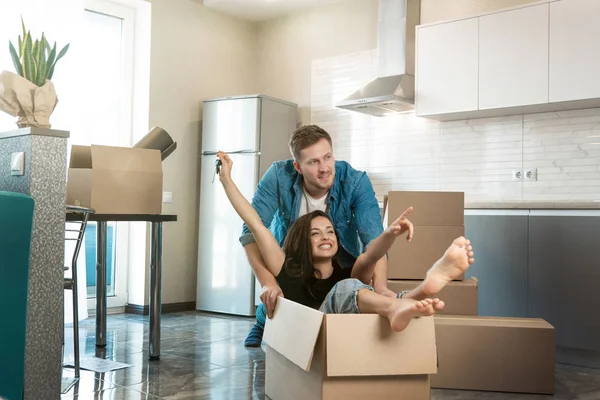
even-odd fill
[[[550,4],[550,102],[600,97],[600,1]]]

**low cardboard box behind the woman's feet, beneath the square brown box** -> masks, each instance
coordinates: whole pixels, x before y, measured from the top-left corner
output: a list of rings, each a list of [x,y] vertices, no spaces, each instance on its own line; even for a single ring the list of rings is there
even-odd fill
[[[388,289],[399,293],[403,290],[416,288],[421,281],[388,281]],[[450,315],[477,315],[478,293],[477,280],[450,282],[436,297],[443,300],[444,308],[439,314]]]

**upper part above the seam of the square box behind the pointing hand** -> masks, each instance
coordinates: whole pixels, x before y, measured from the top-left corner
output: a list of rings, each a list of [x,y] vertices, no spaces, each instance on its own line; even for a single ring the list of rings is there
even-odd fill
[[[389,222],[410,206],[408,219],[415,226],[456,226],[465,224],[463,192],[392,191],[388,193]]]

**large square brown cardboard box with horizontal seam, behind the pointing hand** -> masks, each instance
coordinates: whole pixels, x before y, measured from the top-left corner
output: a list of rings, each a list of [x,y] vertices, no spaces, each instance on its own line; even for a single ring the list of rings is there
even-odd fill
[[[393,191],[384,204],[384,226],[414,208],[408,216],[415,228],[413,240],[396,240],[388,252],[389,279],[424,279],[452,241],[465,235],[463,192]]]

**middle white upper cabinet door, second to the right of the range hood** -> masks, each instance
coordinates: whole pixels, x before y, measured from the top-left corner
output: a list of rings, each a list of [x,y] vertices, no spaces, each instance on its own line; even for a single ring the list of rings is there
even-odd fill
[[[416,114],[477,110],[478,18],[417,29]]]

